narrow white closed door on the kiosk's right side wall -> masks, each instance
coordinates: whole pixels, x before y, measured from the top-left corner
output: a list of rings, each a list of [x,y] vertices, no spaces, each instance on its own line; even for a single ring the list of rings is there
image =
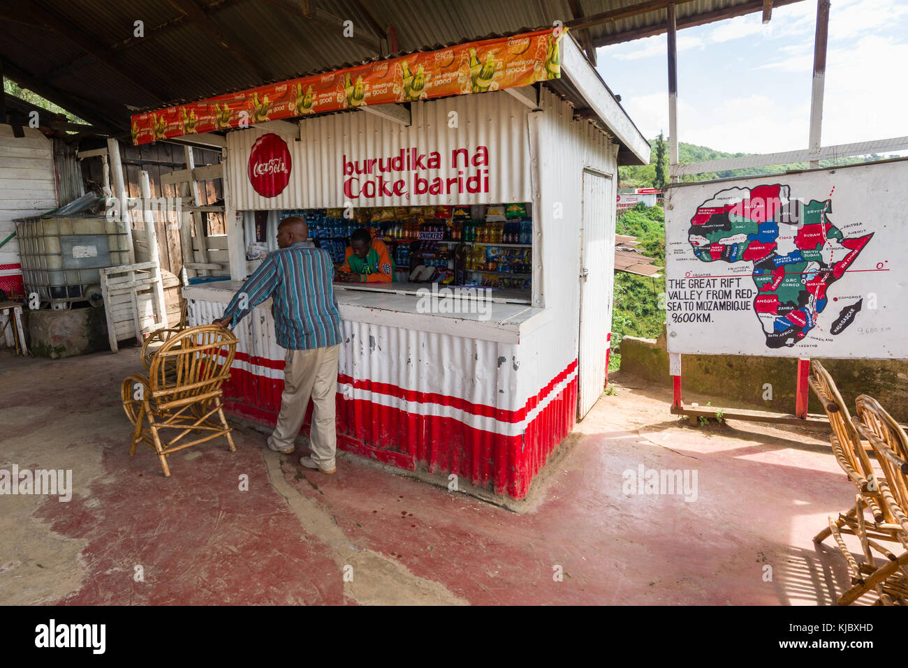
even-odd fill
[[[615,186],[608,174],[583,172],[580,221],[580,345],[577,418],[583,419],[606,382],[615,274]]]

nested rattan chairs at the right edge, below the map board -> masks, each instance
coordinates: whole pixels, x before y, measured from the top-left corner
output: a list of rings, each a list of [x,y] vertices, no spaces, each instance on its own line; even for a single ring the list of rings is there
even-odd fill
[[[904,513],[908,437],[866,395],[857,398],[858,417],[852,417],[823,365],[814,360],[811,366],[810,385],[829,417],[835,459],[855,487],[854,507],[835,519],[830,517],[829,526],[814,536],[821,543],[832,535],[848,566],[851,587],[836,602],[847,605],[864,594],[876,594],[876,604],[908,604],[908,517]],[[857,536],[864,553],[862,563],[845,545],[843,534]],[[894,544],[893,549],[884,543]]]

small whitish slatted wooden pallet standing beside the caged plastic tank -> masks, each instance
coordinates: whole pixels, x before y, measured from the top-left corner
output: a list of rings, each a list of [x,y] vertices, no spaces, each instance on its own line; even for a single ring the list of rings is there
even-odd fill
[[[117,341],[167,327],[161,270],[157,262],[139,262],[98,270],[107,317],[107,337],[116,352]]]

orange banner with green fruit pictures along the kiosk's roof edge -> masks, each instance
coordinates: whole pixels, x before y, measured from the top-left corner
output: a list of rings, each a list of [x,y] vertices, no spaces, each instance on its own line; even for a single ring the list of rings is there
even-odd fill
[[[133,116],[133,144],[366,104],[485,93],[558,79],[561,27],[402,55]]]

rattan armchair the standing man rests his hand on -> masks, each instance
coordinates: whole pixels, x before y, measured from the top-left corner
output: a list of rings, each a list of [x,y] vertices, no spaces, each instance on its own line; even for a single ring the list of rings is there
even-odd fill
[[[167,456],[184,447],[224,436],[236,451],[222,408],[222,385],[230,378],[236,344],[230,330],[215,325],[183,329],[153,355],[147,377],[133,374],[123,380],[123,410],[135,426],[130,455],[143,442],[160,458],[164,476],[170,476]],[[163,436],[174,430],[176,436]],[[182,442],[191,432],[202,436]]]

